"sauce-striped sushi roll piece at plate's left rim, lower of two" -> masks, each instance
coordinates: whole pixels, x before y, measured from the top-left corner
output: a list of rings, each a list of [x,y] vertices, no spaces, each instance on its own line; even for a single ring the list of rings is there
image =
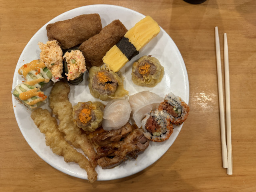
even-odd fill
[[[12,94],[29,109],[36,109],[46,103],[47,96],[40,89],[20,83],[12,90]]]

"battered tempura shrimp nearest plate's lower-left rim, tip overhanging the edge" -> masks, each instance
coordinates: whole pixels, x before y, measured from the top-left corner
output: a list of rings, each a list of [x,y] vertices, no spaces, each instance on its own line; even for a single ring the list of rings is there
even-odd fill
[[[52,117],[47,109],[38,108],[31,113],[36,126],[41,133],[45,134],[46,145],[50,146],[52,152],[64,157],[66,162],[76,162],[86,170],[88,180],[92,183],[97,180],[97,172],[90,164],[89,160],[80,152],[75,150],[58,130],[57,121]]]

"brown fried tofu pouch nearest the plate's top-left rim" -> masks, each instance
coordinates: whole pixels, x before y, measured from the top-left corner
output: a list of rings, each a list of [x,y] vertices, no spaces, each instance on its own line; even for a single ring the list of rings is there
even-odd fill
[[[102,30],[99,14],[84,14],[46,26],[48,40],[57,40],[63,49],[72,48]]]

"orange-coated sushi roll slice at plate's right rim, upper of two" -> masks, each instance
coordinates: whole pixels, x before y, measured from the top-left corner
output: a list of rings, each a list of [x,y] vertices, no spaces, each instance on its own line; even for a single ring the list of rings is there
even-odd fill
[[[164,102],[160,103],[158,110],[168,113],[171,123],[180,125],[187,119],[189,107],[180,97],[168,93],[164,97]]]

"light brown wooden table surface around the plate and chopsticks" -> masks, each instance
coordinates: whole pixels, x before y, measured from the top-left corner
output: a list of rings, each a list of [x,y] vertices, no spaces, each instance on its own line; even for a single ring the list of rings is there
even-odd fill
[[[56,170],[30,148],[16,123],[10,93],[16,63],[30,38],[59,14],[91,4],[152,16],[178,46],[190,86],[190,115],[169,150],[137,174],[93,184]],[[228,36],[233,175],[222,168],[215,26],[222,61],[223,33]],[[256,191],[256,1],[0,0],[0,58],[1,192]]]

